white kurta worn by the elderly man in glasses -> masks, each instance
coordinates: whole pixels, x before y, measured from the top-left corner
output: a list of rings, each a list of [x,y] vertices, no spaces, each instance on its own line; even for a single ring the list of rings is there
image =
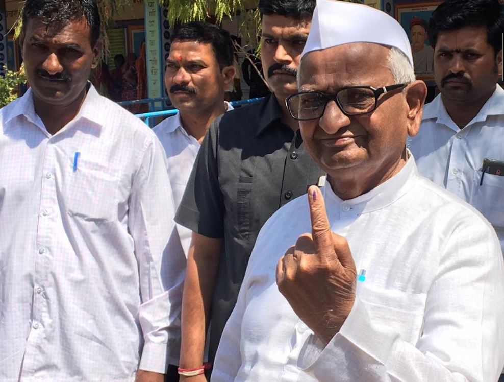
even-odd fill
[[[299,197],[259,234],[212,381],[495,382],[504,265],[481,214],[419,176],[413,157],[355,199],[322,193],[332,230],[366,270],[345,323],[324,347],[276,286],[276,262],[311,232]]]

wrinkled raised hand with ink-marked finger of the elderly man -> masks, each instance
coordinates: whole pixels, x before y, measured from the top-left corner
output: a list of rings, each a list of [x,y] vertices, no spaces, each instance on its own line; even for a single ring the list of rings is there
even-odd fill
[[[355,300],[356,268],[348,243],[331,231],[322,193],[308,189],[312,233],[299,236],[276,265],[276,284],[296,315],[325,344]]]

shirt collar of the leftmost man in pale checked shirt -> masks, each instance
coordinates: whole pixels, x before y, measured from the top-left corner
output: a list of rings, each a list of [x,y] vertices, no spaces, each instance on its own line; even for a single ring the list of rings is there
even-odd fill
[[[88,121],[96,123],[98,126],[104,125],[105,110],[103,110],[103,102],[100,100],[101,96],[98,94],[94,86],[88,82],[89,89],[86,94],[86,98],[72,121],[77,121],[79,118],[86,118]],[[8,122],[14,118],[23,115],[28,121],[34,123],[40,128],[45,130],[44,124],[40,120],[40,117],[35,112],[35,107],[33,104],[33,91],[29,88],[26,93],[16,101],[11,102],[5,107],[5,128],[9,126]]]

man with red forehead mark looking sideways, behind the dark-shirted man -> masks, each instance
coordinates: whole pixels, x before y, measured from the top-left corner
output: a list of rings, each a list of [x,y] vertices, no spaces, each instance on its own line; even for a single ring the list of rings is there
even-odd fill
[[[230,34],[208,22],[188,22],[175,28],[164,75],[170,101],[178,113],[154,132],[166,152],[166,163],[175,208],[184,195],[201,141],[211,122],[233,107],[224,101],[233,82],[233,43]],[[170,296],[167,380],[177,380],[180,358],[180,319],[186,259],[191,231],[175,225],[165,257],[163,275]]]

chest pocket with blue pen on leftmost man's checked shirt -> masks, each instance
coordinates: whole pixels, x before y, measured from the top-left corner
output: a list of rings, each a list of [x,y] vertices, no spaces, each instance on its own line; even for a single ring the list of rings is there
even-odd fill
[[[73,160],[61,173],[63,203],[69,216],[90,222],[113,222],[118,219],[120,181],[103,164],[79,158],[73,171]]]

